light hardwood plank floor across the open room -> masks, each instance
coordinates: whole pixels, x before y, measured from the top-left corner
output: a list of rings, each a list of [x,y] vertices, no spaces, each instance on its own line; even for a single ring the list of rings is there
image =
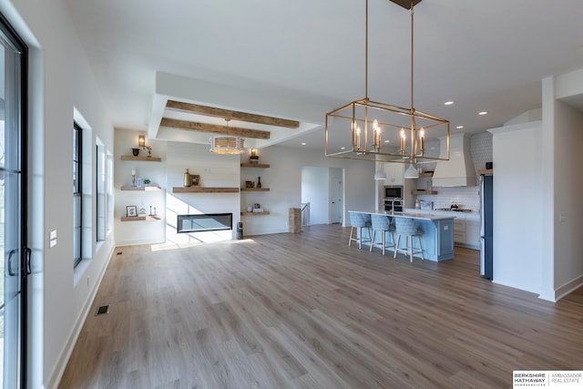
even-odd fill
[[[583,369],[583,292],[541,301],[480,278],[478,251],[395,261],[349,230],[118,248],[59,387],[508,388]]]

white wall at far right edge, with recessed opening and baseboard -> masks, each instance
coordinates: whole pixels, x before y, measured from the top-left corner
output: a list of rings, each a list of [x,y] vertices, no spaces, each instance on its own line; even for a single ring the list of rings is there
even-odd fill
[[[543,194],[549,210],[544,212],[547,235],[544,248],[540,297],[557,301],[583,285],[581,250],[583,207],[578,193],[583,190],[579,167],[583,163],[583,114],[569,104],[583,98],[583,69],[547,77],[543,86]],[[580,105],[579,105],[580,107]]]

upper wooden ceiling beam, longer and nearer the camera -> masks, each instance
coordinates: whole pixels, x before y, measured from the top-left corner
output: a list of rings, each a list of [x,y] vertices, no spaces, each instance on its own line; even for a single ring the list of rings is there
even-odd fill
[[[230,109],[223,109],[217,107],[199,106],[198,104],[183,103],[180,101],[168,100],[167,108],[182,109],[189,112],[194,112],[200,115],[206,115],[216,118],[228,118],[232,120],[246,121],[249,123],[264,124],[267,126],[277,126],[283,128],[299,128],[300,122],[295,120],[288,120],[285,118],[272,118],[262,115],[254,115],[246,112],[232,111]]]

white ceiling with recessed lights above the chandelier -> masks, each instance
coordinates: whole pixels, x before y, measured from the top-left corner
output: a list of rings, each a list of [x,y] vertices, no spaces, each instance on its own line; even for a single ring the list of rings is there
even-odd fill
[[[409,107],[409,11],[369,2],[368,95]],[[66,3],[117,128],[159,120],[157,72],[329,109],[365,97],[364,0]],[[542,78],[583,68],[581,0],[423,0],[414,9],[414,106],[453,131],[499,127],[541,106]],[[297,109],[233,99],[226,108],[306,122]],[[323,148],[312,125],[325,113],[282,144]]]

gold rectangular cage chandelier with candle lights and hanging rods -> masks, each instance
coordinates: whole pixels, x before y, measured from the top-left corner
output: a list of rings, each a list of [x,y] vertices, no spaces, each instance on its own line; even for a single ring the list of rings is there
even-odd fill
[[[390,0],[411,10],[411,107],[368,97],[368,14],[366,0],[364,98],[326,114],[326,157],[376,162],[424,163],[449,159],[449,121],[414,107],[414,5],[422,0]],[[445,157],[425,154],[425,137],[445,136]]]

